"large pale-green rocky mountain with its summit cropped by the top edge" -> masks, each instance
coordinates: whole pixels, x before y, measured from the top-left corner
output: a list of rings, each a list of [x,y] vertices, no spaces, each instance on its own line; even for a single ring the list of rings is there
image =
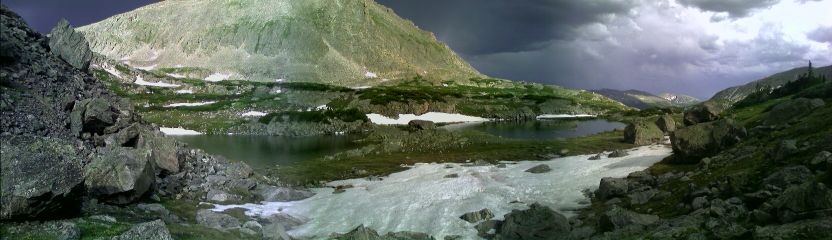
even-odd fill
[[[432,33],[372,0],[180,0],[78,29],[94,52],[189,77],[374,85],[482,76]]]

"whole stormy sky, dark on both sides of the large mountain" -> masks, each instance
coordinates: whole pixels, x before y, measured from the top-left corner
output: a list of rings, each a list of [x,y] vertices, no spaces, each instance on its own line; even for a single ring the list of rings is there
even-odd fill
[[[6,0],[45,32],[155,1]],[[573,88],[708,98],[832,64],[832,0],[379,0],[481,72]]]

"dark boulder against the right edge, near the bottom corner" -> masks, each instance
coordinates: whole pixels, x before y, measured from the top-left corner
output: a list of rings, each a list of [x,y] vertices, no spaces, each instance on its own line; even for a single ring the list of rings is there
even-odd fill
[[[816,211],[832,211],[832,189],[819,182],[795,185],[783,191],[772,205],[778,209],[781,222],[812,217]]]

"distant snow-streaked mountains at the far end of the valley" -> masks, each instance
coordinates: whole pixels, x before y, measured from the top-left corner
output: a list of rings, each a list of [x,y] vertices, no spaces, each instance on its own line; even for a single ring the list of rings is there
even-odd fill
[[[640,90],[598,89],[592,92],[619,101],[624,105],[645,109],[651,107],[685,107],[696,104],[699,99],[686,95],[663,93],[659,96]]]

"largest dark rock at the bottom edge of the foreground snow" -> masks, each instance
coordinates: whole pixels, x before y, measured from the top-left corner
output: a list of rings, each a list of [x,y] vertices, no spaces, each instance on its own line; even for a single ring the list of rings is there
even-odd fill
[[[534,203],[526,210],[512,210],[497,231],[499,239],[552,239],[569,234],[569,220],[549,207]]]

